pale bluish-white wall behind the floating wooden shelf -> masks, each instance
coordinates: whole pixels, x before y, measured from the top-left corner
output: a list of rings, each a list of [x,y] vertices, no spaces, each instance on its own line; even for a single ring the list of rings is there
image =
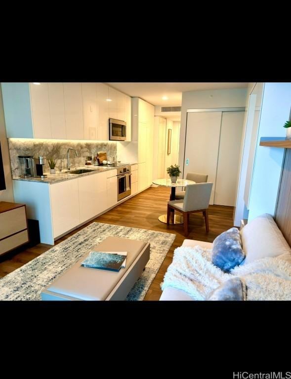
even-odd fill
[[[249,221],[275,213],[284,149],[259,146],[261,137],[285,137],[291,109],[291,83],[265,83],[249,196]]]

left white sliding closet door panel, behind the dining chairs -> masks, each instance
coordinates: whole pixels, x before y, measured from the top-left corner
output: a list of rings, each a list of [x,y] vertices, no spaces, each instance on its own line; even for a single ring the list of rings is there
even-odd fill
[[[221,112],[187,113],[184,175],[208,174],[213,183],[209,204],[213,204],[219,146]]]

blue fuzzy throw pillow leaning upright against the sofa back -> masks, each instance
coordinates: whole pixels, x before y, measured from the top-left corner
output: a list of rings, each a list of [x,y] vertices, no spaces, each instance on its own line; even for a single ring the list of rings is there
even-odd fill
[[[240,265],[245,257],[240,231],[236,227],[224,231],[214,239],[212,263],[223,271],[228,272]]]

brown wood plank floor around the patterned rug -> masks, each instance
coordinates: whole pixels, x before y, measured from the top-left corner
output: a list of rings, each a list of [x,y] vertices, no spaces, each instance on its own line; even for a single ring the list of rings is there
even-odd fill
[[[161,223],[158,217],[166,213],[166,203],[169,199],[170,189],[165,187],[149,188],[140,194],[128,199],[119,206],[113,208],[102,216],[93,221],[106,224],[115,224],[125,227],[140,227],[157,231],[166,231],[175,233],[176,238],[168,251],[166,258],[160,267],[154,281],[149,288],[144,300],[159,300],[161,296],[160,283],[163,281],[166,269],[172,262],[173,251],[180,246],[185,239],[183,235],[183,225],[166,227]],[[93,221],[82,227],[68,233],[66,236],[56,241],[60,243],[66,238],[75,234],[83,227],[91,224]],[[212,242],[213,239],[222,231],[233,226],[233,207],[220,205],[209,206],[209,233],[206,232],[205,223],[202,213],[192,214],[190,216],[189,235],[187,239]],[[11,259],[0,262],[0,277],[7,275],[18,267],[38,257],[51,246],[39,244],[30,249],[19,252]]]

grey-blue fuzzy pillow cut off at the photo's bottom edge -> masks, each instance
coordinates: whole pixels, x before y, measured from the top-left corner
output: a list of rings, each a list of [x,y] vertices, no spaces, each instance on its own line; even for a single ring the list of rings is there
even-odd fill
[[[209,292],[205,300],[246,300],[246,287],[240,278],[235,277],[226,280],[215,290]]]

